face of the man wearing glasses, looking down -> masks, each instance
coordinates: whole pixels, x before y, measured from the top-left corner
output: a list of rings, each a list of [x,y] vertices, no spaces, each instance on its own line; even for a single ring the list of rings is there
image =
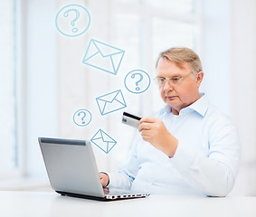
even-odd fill
[[[175,62],[164,58],[161,58],[157,63],[156,76],[166,79],[166,84],[159,86],[161,97],[172,108],[175,115],[178,115],[181,109],[191,105],[200,98],[198,89],[203,80],[204,73],[200,71],[197,76],[194,76],[194,73],[191,72],[188,63],[183,64],[182,68],[177,66]],[[176,85],[171,85],[167,81],[168,79],[180,79],[183,77],[185,78]]]

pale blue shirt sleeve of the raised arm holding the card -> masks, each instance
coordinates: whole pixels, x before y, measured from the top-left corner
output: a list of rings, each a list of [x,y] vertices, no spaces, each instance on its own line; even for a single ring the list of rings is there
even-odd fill
[[[240,140],[230,121],[219,120],[209,128],[208,156],[187,150],[179,141],[170,158],[185,180],[208,196],[225,196],[231,192],[240,165]]]

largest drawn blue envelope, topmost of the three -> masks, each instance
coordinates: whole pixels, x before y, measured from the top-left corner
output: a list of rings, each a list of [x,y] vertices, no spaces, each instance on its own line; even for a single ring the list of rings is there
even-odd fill
[[[82,62],[101,71],[117,74],[124,53],[119,48],[91,39]]]

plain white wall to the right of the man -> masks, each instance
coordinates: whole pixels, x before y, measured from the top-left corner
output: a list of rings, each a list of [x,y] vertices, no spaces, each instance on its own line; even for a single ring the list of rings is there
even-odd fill
[[[232,117],[242,162],[231,195],[256,194],[256,2],[206,0],[203,21],[204,90]]]

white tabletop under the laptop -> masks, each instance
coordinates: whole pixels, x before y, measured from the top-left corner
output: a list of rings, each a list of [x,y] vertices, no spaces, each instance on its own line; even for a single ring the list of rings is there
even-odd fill
[[[150,195],[148,198],[99,202],[57,193],[0,192],[1,217],[255,217],[256,197],[200,198]]]

